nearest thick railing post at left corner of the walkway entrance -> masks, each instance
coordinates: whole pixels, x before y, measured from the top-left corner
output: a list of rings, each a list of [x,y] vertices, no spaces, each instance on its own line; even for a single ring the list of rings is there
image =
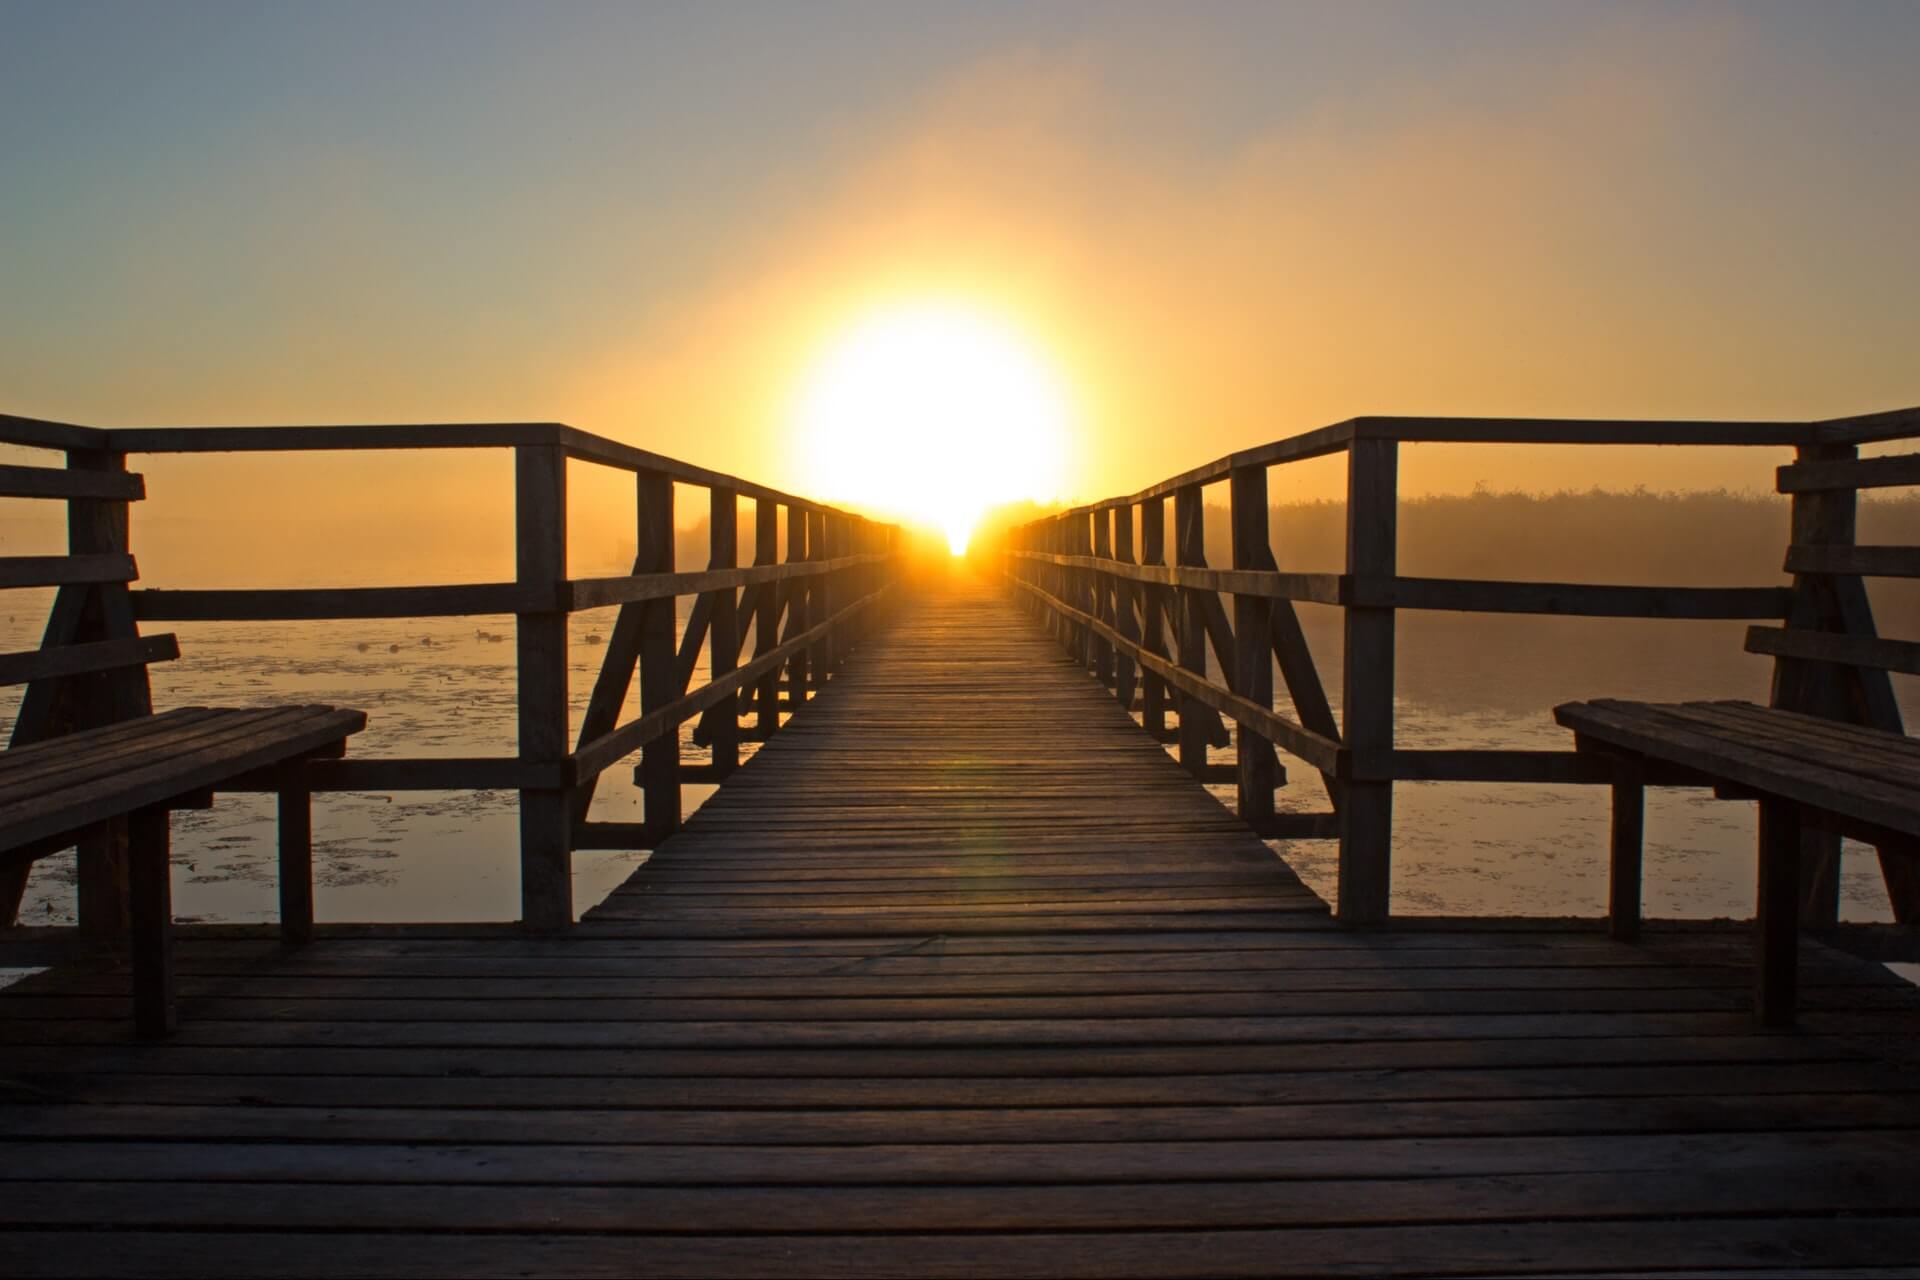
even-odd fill
[[[547,608],[515,618],[518,651],[520,762],[559,771],[566,762],[566,453],[518,445],[515,474],[515,570]],[[572,804],[559,787],[520,791],[520,921],[557,931],[574,921]]]

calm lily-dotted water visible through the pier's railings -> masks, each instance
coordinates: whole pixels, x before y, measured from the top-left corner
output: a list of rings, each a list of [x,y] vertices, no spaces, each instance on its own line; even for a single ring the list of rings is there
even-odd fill
[[[8,604],[15,612],[0,618],[4,649],[35,645],[44,603],[17,593]],[[1338,618],[1332,610],[1308,610],[1306,622],[1338,708]],[[595,639],[611,626],[612,610],[574,618],[576,729],[603,654]],[[369,712],[369,729],[351,743],[355,756],[513,752],[511,618],[177,624],[173,629],[184,656],[154,668],[159,708],[334,702]],[[1578,697],[1764,700],[1770,668],[1741,654],[1740,637],[1741,624],[1404,616],[1398,741],[1565,748],[1571,735],[1553,723],[1549,708]],[[10,718],[12,702],[0,704],[0,712]],[[1294,781],[1281,793],[1281,804],[1325,808],[1311,770],[1288,766]],[[707,794],[710,787],[687,787],[687,808]],[[1217,794],[1231,800],[1231,789]],[[636,821],[639,812],[630,766],[603,775],[593,818]],[[319,917],[513,919],[515,841],[513,793],[315,796]],[[1402,783],[1394,906],[1407,913],[1597,915],[1605,902],[1605,844],[1603,787]],[[1332,894],[1332,842],[1275,848],[1309,885]],[[209,812],[175,816],[175,854],[182,917],[273,919],[271,796],[221,796]],[[599,902],[643,858],[576,854],[576,908]],[[1713,800],[1701,791],[1649,793],[1647,910],[1751,915],[1753,806]],[[1889,919],[1870,850],[1849,846],[1843,913]],[[36,865],[21,917],[71,921],[71,856]]]

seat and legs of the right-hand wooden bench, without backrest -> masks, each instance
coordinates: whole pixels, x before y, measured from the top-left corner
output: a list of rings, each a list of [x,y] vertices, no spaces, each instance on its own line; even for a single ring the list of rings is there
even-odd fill
[[[1580,750],[1619,756],[1607,890],[1615,936],[1640,929],[1647,762],[1761,802],[1755,1011],[1766,1027],[1793,1023],[1805,835],[1853,837],[1908,864],[1920,852],[1920,743],[1901,733],[1751,702],[1599,699],[1557,706],[1553,718]]]

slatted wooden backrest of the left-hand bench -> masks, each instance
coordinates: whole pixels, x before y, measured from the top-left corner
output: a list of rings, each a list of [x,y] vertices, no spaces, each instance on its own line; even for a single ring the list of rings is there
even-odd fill
[[[27,685],[8,747],[150,716],[146,664],[180,656],[173,635],[140,635],[129,583],[129,510],[146,482],[104,432],[0,415],[0,443],[60,449],[65,466],[0,464],[0,497],[67,505],[67,553],[0,557],[0,589],[54,587],[38,649],[0,652],[0,685]]]

